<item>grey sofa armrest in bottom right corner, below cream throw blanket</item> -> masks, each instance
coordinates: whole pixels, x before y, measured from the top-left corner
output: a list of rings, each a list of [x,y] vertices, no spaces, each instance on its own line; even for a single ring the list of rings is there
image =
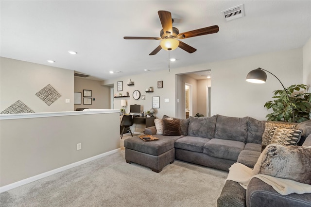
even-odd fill
[[[248,207],[310,207],[311,193],[281,195],[258,178],[252,178],[246,190]]]

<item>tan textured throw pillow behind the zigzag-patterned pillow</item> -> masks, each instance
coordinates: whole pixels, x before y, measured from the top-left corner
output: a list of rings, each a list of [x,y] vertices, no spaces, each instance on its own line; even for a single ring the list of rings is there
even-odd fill
[[[271,140],[275,134],[277,128],[294,129],[295,125],[290,123],[280,123],[280,122],[266,122],[265,128],[262,134],[262,147],[266,147],[271,144]]]

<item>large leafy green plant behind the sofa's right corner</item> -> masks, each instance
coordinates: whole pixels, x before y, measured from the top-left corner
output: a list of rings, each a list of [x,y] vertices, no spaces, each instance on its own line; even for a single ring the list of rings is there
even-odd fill
[[[306,90],[308,86],[300,84],[289,86],[286,89],[291,102],[288,100],[288,96],[285,90],[275,90],[272,98],[274,101],[269,101],[264,104],[267,109],[272,109],[273,112],[266,117],[268,121],[285,121],[293,122],[293,108],[295,122],[302,122],[310,120],[311,111],[311,93],[300,93],[301,89]],[[295,93],[294,93],[295,91]]]

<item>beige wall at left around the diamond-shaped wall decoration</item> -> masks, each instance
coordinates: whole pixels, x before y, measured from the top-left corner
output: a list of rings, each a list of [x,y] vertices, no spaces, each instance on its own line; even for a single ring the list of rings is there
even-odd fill
[[[49,84],[61,95],[50,106],[35,95]],[[0,111],[18,100],[35,112],[72,111],[73,71],[1,57],[0,94]]]

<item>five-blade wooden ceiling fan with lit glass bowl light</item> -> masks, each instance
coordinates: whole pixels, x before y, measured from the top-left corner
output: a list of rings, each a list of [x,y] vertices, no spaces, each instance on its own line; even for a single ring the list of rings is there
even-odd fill
[[[124,39],[155,39],[161,40],[160,45],[155,48],[153,52],[149,55],[155,55],[161,49],[172,51],[175,50],[177,47],[183,49],[186,52],[192,53],[195,52],[196,49],[191,47],[190,45],[178,40],[178,39],[185,39],[194,36],[200,35],[208,35],[217,33],[219,31],[219,27],[217,25],[192,30],[185,33],[179,33],[179,30],[176,27],[173,27],[173,19],[171,12],[168,11],[158,11],[157,12],[160,21],[162,24],[162,30],[160,31],[161,37],[140,37],[140,36],[124,36]]]

